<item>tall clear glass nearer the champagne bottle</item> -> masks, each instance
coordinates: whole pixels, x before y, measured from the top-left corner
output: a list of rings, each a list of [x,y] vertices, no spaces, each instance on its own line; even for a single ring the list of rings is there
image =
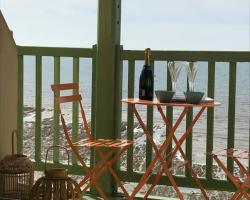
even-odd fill
[[[181,63],[170,61],[168,62],[168,69],[172,80],[172,90],[175,92],[174,96],[176,97],[177,80],[181,71]]]

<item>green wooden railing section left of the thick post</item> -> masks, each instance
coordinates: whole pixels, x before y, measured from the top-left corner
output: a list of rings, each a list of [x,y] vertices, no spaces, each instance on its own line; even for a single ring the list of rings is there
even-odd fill
[[[95,47],[87,48],[48,48],[48,47],[21,47],[18,46],[18,130],[19,143],[18,152],[23,152],[23,131],[24,131],[24,56],[35,57],[35,155],[34,167],[38,171],[44,170],[44,161],[41,159],[42,143],[41,143],[41,122],[42,122],[42,57],[48,56],[54,59],[54,83],[60,83],[60,58],[73,58],[73,82],[79,82],[79,59],[90,58],[92,65],[95,63]],[[53,73],[53,72],[51,72]],[[53,141],[51,145],[59,144],[60,120],[59,109],[54,103],[53,114]],[[78,107],[72,105],[72,137],[77,139],[78,135]],[[62,144],[61,144],[62,145]],[[59,151],[57,148],[53,150],[53,164],[50,166],[61,166],[58,162]],[[77,161],[72,156],[72,165],[69,168],[70,173],[82,174],[81,167],[77,165]]]

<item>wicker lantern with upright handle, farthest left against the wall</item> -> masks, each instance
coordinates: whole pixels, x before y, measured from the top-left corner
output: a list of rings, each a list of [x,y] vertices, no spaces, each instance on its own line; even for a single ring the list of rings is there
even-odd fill
[[[14,134],[12,131],[12,155],[0,161],[0,197],[28,199],[34,183],[32,162],[25,155],[14,154]]]

